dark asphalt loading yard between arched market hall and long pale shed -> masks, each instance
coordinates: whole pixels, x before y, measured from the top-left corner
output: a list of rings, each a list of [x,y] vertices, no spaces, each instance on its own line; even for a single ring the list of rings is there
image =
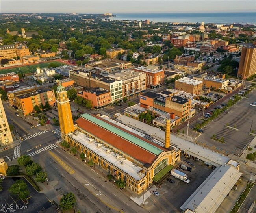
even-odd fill
[[[180,206],[193,194],[193,192],[201,185],[202,182],[213,172],[213,169],[207,167],[205,164],[195,161],[193,159],[187,159],[190,163],[195,165],[191,172],[182,171],[187,174],[190,182],[188,184],[184,183],[173,176],[169,176],[175,181],[175,183],[170,183],[167,180],[161,184],[161,188],[155,187],[152,190],[157,189],[160,196],[156,197],[151,195],[148,198],[148,202],[154,203],[150,212],[169,212],[176,213],[181,212]],[[184,163],[180,161],[178,164]],[[190,166],[189,164],[186,164]],[[190,166],[191,167],[191,166]]]

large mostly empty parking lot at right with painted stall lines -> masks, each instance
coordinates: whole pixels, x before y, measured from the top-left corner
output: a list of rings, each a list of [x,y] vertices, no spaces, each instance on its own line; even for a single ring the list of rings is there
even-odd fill
[[[223,112],[216,119],[204,126],[202,133],[197,139],[196,143],[208,148],[216,147],[223,152],[223,154],[240,155],[254,138],[249,135],[250,129],[256,130],[256,106],[250,104],[255,102],[256,92],[252,91],[249,98],[242,98],[235,105]],[[226,128],[225,125],[237,128],[238,131]],[[224,143],[215,141],[211,137],[223,139]]]

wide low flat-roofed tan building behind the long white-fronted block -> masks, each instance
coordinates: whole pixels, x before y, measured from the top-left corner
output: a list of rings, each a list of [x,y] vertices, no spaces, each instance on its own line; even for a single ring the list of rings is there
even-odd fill
[[[121,61],[113,58],[95,61],[85,65],[87,69],[93,70],[93,72],[97,72],[98,74],[108,74],[117,70],[128,69],[131,66],[132,63],[130,61]]]

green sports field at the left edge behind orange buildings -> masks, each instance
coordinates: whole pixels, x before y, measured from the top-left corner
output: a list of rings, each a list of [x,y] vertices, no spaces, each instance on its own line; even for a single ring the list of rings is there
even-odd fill
[[[10,68],[10,69],[1,69],[1,74],[6,74],[6,73],[9,73],[9,72],[15,72],[15,73],[31,73],[31,72],[36,72],[36,68],[37,67],[40,67],[40,68],[43,68],[43,67],[48,67],[48,65],[50,63],[54,63],[56,64],[56,66],[60,66],[61,63],[58,62],[58,61],[52,61],[52,62],[46,62],[46,63],[38,63],[38,64],[34,64],[34,65],[28,65],[28,66],[24,66],[24,67],[20,67],[20,70],[19,70],[19,67],[15,67],[15,68]],[[64,65],[62,63],[62,65]]]

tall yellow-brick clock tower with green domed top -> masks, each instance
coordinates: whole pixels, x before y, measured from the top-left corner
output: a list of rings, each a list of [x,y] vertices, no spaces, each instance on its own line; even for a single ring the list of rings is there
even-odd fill
[[[74,123],[69,105],[69,98],[65,87],[61,85],[57,87],[56,93],[60,131],[62,137],[66,138],[65,136],[67,134],[74,132]]]

